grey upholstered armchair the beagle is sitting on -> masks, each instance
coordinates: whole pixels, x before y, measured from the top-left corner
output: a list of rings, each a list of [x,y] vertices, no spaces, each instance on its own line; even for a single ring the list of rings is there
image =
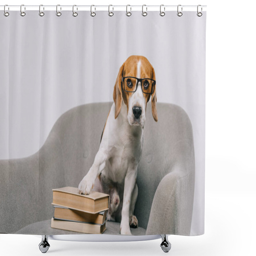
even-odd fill
[[[38,152],[0,161],[0,233],[81,234],[51,228],[52,189],[77,187],[90,169],[111,104],[68,110]],[[179,106],[157,103],[157,123],[151,106],[147,109],[134,212],[139,227],[131,232],[189,235],[195,179],[192,126]],[[106,226],[104,234],[119,233],[120,223],[108,221]]]

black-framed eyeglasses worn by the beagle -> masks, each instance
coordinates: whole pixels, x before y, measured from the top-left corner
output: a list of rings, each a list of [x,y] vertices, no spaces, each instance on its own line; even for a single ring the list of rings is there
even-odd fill
[[[151,78],[137,78],[133,76],[122,77],[122,82],[124,83],[125,92],[136,92],[140,82],[142,92],[146,94],[152,94],[156,85],[156,81]]]

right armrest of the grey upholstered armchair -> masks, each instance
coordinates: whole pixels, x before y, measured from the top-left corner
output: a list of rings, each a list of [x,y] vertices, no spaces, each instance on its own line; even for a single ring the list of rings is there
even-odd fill
[[[160,181],[151,206],[146,235],[190,235],[195,172],[176,166]]]

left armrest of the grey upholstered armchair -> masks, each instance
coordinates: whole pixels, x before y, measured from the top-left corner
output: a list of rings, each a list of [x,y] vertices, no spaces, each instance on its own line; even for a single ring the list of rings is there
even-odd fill
[[[0,161],[0,233],[37,221],[38,154]]]

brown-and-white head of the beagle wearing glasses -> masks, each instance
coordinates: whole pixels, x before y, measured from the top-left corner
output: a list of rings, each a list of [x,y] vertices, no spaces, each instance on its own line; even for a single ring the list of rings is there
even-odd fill
[[[156,76],[152,65],[143,56],[130,56],[119,69],[113,98],[116,105],[115,118],[120,113],[122,101],[127,106],[130,125],[144,126],[146,106],[151,96],[152,115],[157,122]]]

